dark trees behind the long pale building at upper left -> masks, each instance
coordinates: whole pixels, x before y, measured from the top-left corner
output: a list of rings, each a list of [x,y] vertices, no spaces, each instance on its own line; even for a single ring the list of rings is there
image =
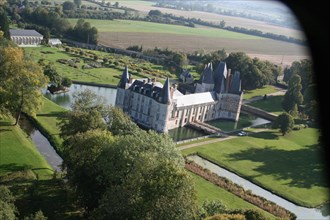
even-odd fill
[[[73,7],[79,5],[77,0],[75,0],[75,3],[71,3]],[[0,25],[1,30],[5,32],[5,37],[8,35],[8,15],[10,15],[11,22],[16,23],[21,28],[37,30],[44,35],[46,40],[52,34],[57,37],[68,37],[83,43],[97,43],[98,31],[89,22],[78,20],[77,24],[72,27],[70,22],[63,17],[63,11],[66,11],[69,7],[66,4],[63,4],[63,9],[61,6],[56,6],[55,9],[52,9],[43,6],[30,7],[26,3],[27,6],[25,8],[13,10],[13,8],[19,7],[20,4],[20,2],[11,1],[4,7],[5,10],[2,8],[0,10]]]

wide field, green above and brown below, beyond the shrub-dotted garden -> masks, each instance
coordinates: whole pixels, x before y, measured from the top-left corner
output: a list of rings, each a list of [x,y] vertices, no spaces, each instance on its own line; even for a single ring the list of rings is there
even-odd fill
[[[70,19],[75,24],[77,19]],[[86,19],[99,30],[99,43],[117,48],[142,45],[143,49],[168,48],[192,53],[225,49],[228,53],[243,51],[252,57],[290,65],[308,58],[307,47],[292,43],[196,26],[195,28],[129,20]]]

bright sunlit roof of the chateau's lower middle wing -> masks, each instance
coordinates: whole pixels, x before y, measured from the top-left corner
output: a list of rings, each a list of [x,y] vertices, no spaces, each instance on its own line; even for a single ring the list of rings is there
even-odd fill
[[[176,97],[176,103],[178,108],[205,104],[214,101],[216,101],[216,97],[213,92],[202,92]]]

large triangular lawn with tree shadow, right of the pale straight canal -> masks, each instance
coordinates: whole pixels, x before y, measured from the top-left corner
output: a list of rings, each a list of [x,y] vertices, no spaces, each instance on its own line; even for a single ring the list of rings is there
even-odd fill
[[[281,136],[273,130],[184,150],[198,152],[211,161],[303,206],[318,206],[329,200],[314,128]]]

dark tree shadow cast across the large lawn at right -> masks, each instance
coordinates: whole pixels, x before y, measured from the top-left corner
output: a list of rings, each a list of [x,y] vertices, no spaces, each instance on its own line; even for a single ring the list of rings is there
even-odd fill
[[[274,146],[264,149],[250,148],[230,154],[232,161],[250,160],[262,165],[254,170],[261,175],[272,175],[277,180],[289,180],[289,186],[311,188],[328,187],[324,149],[318,145],[309,145],[299,150],[281,150]]]

